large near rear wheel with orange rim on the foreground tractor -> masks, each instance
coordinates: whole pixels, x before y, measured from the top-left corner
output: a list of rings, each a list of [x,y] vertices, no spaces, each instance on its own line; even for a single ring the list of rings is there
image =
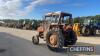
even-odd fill
[[[51,30],[47,33],[46,37],[47,47],[52,51],[58,51],[58,49],[64,46],[64,38],[60,30]]]

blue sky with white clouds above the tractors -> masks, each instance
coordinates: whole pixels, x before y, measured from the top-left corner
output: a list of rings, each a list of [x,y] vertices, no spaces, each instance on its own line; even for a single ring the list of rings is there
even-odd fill
[[[0,19],[42,19],[56,11],[73,18],[100,15],[100,0],[0,0]]]

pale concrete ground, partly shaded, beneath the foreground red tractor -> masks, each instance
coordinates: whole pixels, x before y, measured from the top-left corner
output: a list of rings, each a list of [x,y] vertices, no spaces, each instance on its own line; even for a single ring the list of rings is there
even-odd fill
[[[79,53],[53,52],[40,39],[39,45],[31,42],[35,31],[0,27],[0,56],[75,56]],[[94,45],[95,55],[100,55],[100,36],[78,37],[76,45]],[[84,54],[86,55],[86,54]]]

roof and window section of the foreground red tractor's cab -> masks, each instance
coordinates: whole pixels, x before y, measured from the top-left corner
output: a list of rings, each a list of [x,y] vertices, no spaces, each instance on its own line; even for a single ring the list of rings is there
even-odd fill
[[[66,20],[69,20],[71,23],[72,14],[64,12],[52,12],[45,15],[45,20],[50,24],[66,24]]]

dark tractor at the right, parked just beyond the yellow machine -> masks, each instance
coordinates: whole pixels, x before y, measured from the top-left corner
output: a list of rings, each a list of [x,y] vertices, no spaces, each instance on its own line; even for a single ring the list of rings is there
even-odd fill
[[[96,35],[96,30],[100,30],[100,19],[86,18],[81,25],[83,36]]]

